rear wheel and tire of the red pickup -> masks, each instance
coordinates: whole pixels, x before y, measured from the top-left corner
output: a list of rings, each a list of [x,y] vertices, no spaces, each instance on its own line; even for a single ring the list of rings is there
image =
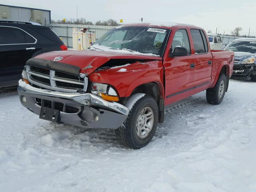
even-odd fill
[[[206,100],[209,104],[218,105],[222,102],[227,86],[225,74],[221,74],[216,85],[206,90]]]

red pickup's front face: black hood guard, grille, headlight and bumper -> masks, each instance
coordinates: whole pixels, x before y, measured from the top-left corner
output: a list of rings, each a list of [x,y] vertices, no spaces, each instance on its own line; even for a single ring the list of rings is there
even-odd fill
[[[116,91],[106,84],[90,82],[76,66],[40,59],[27,64],[18,85],[20,102],[41,119],[110,129],[126,120],[130,110],[110,101],[117,98]],[[112,94],[110,100],[104,100],[104,94]]]

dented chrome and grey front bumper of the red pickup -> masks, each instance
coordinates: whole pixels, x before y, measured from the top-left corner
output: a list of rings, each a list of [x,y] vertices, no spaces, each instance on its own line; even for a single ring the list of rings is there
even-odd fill
[[[21,104],[40,115],[41,108],[59,111],[60,122],[84,128],[116,129],[126,120],[129,109],[90,93],[63,93],[35,88],[19,81]]]

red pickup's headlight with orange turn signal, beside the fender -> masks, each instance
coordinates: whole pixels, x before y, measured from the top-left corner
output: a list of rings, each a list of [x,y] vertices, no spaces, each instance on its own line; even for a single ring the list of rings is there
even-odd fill
[[[108,84],[92,83],[92,93],[98,94],[104,100],[119,101],[116,91]]]

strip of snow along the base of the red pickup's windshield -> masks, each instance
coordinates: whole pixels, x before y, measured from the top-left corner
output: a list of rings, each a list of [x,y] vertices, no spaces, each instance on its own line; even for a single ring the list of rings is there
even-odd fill
[[[115,48],[111,48],[111,47],[107,47],[104,45],[99,45],[99,44],[94,44],[93,46],[91,46],[90,50],[96,50],[96,51],[110,51],[110,52],[120,52],[120,53],[130,53],[130,54],[140,54],[140,55],[148,55],[148,56],[156,56],[156,57],[160,57],[160,55],[156,55],[153,53],[141,53],[138,51],[129,51],[127,49],[115,49]]]

